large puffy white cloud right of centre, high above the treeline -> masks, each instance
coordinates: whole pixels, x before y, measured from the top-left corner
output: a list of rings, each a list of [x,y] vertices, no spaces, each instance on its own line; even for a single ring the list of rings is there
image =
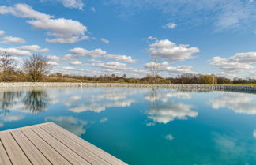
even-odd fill
[[[184,61],[195,58],[192,56],[198,53],[198,47],[189,47],[189,45],[176,45],[168,39],[156,40],[149,45],[149,52],[152,57],[166,58],[172,61]]]

